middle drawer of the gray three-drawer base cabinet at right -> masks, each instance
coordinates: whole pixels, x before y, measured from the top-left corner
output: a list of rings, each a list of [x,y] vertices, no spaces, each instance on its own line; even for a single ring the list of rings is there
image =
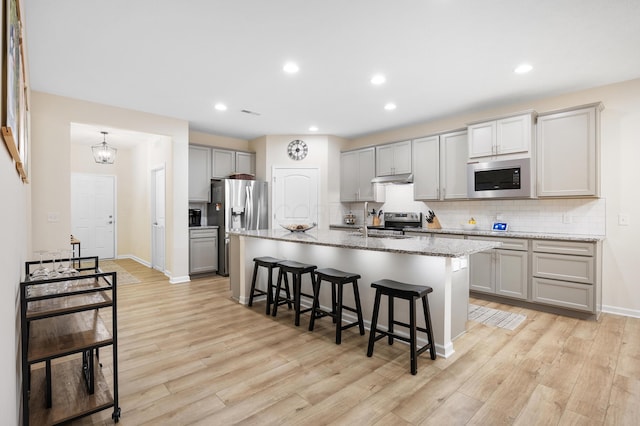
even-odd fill
[[[593,257],[533,253],[532,273],[534,277],[593,284]]]

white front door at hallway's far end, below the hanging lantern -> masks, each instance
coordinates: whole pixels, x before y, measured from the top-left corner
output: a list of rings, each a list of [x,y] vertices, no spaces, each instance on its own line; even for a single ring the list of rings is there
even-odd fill
[[[71,174],[71,233],[83,256],[115,258],[115,176]]]

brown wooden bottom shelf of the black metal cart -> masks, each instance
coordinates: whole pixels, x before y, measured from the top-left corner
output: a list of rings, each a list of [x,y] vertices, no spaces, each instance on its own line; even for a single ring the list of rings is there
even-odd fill
[[[114,406],[113,395],[100,368],[95,369],[94,393],[92,395],[87,393],[82,375],[81,357],[70,357],[62,362],[53,363],[51,374],[53,401],[52,407],[47,408],[45,398],[34,397],[34,395],[45,393],[45,369],[40,367],[31,370],[32,397],[29,398],[29,424],[59,424]],[[114,412],[116,411],[119,409],[114,409]]]

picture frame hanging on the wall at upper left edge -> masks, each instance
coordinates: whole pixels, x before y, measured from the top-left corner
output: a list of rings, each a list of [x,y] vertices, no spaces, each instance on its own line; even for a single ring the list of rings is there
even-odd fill
[[[23,182],[28,181],[26,164],[28,162],[28,88],[25,84],[26,69],[22,44],[22,21],[20,0],[3,0],[4,30],[3,45],[3,105],[2,137],[16,164],[16,170]]]

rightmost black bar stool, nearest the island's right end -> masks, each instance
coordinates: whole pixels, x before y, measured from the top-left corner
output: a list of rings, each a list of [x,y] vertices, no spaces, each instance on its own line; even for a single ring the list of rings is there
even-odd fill
[[[436,348],[433,342],[433,330],[431,327],[431,315],[429,313],[429,301],[427,294],[433,289],[427,286],[418,286],[402,283],[393,280],[379,280],[371,283],[371,287],[376,289],[376,299],[373,305],[373,316],[371,318],[371,332],[369,335],[369,347],[367,348],[367,356],[373,355],[373,344],[376,340],[382,339],[384,336],[389,338],[389,344],[393,344],[393,339],[399,339],[409,342],[411,347],[411,374],[418,372],[418,355],[429,349],[431,359],[436,359]],[[387,331],[378,328],[378,311],[380,310],[380,298],[386,295],[389,300],[389,327]],[[397,297],[409,301],[409,324],[396,321],[393,318],[393,299]],[[424,310],[424,320],[426,328],[416,326],[416,300],[422,299],[422,308]],[[409,338],[395,334],[393,326],[400,325],[409,329]],[[417,347],[416,331],[422,331],[427,334],[429,343],[423,347]]]

